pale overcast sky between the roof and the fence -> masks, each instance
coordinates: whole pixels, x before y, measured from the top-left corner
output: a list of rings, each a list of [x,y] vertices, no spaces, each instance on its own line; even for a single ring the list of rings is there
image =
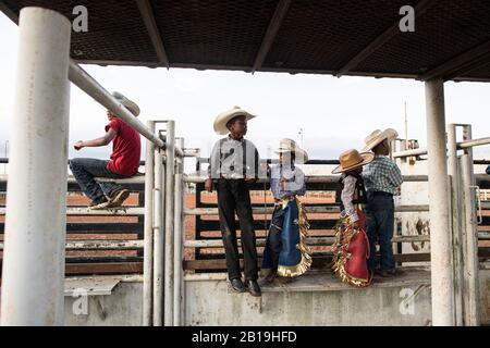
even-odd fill
[[[0,157],[5,154],[12,127],[17,39],[17,26],[0,13]],[[418,139],[421,147],[427,144],[424,83],[412,79],[83,67],[107,90],[136,101],[140,121],[175,120],[176,136],[185,138],[185,147],[201,148],[204,157],[220,138],[212,129],[215,117],[234,105],[257,114],[249,121],[247,138],[262,158],[274,157],[271,150],[283,137],[303,144],[310,159],[335,159],[344,150],[360,149],[377,128],[392,127],[404,137],[405,102],[408,138]],[[450,82],[444,86],[446,122],[471,124],[475,138],[490,136],[490,84]],[[76,140],[103,135],[106,124],[105,108],[71,84],[69,157],[107,158],[110,146],[73,149]],[[490,159],[490,147],[475,149],[475,158]]]

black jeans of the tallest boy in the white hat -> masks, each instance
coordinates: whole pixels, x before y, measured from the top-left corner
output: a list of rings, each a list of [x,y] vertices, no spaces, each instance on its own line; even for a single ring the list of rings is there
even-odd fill
[[[250,194],[243,179],[217,181],[218,211],[220,228],[226,257],[228,276],[240,278],[240,257],[236,241],[235,211],[242,232],[242,251],[244,257],[245,279],[257,279],[257,249],[252,214]]]

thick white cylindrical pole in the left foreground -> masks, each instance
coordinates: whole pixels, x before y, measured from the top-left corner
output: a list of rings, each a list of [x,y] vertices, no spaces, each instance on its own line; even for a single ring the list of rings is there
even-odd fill
[[[19,26],[1,324],[62,325],[71,24],[24,8]]]

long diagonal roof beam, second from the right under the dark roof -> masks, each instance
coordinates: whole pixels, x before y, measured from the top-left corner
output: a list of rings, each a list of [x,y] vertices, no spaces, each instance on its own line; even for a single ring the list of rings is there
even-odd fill
[[[415,16],[418,17],[425,13],[437,0],[420,0],[414,8]],[[388,29],[385,29],[380,36],[378,36],[372,42],[364,48],[359,53],[352,58],[344,66],[342,66],[335,74],[336,77],[345,75],[351,70],[364,62],[369,55],[371,55],[377,49],[391,40],[396,34],[400,33],[400,21],[396,21]]]

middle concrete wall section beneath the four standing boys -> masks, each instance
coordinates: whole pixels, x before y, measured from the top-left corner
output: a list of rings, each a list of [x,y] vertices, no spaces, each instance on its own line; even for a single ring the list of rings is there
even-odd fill
[[[417,287],[409,287],[414,291]],[[229,294],[224,281],[189,282],[187,325],[427,325],[430,290],[422,287],[414,314],[402,315],[400,287],[352,290]],[[212,294],[212,296],[210,296]]]

